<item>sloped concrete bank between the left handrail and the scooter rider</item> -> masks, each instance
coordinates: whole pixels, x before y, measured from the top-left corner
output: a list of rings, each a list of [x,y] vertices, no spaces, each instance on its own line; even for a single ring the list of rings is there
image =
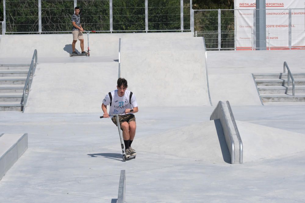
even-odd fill
[[[105,95],[117,86],[117,62],[41,63],[24,112],[102,112]]]

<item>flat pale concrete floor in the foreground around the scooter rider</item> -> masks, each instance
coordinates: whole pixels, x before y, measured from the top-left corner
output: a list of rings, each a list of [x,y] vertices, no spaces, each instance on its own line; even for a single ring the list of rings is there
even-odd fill
[[[170,130],[209,121],[213,109],[139,108],[133,147],[140,149],[137,145],[147,138],[153,148],[162,142],[160,137],[153,142],[154,135],[166,137]],[[305,134],[303,106],[232,110],[238,121]],[[120,170],[126,170],[126,202],[305,201],[305,150],[232,165],[205,160],[205,154],[194,159],[194,152],[179,147],[177,152],[191,153],[181,157],[138,150],[136,159],[122,162],[117,127],[99,115],[0,112],[1,131],[28,133],[29,142],[0,181],[0,202],[115,202]]]

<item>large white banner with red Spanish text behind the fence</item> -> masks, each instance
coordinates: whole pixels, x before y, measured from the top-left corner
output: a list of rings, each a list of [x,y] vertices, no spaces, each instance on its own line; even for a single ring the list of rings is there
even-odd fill
[[[234,3],[235,47],[237,50],[252,49],[255,47],[256,1],[235,0]],[[305,49],[305,0],[266,0],[267,49],[289,49],[289,41],[292,49]]]

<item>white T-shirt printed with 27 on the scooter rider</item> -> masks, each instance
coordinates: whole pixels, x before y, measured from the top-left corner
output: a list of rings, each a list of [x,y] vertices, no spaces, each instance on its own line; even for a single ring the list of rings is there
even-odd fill
[[[135,99],[135,95],[132,94],[131,96],[131,102],[129,102],[129,96],[130,96],[130,91],[125,90],[124,96],[119,96],[117,94],[117,89],[111,92],[112,95],[112,101],[111,101],[111,106],[109,110],[109,114],[120,114],[125,111],[125,109],[132,109],[135,107],[138,107],[137,100]],[[130,104],[131,103],[131,104]],[[104,105],[109,105],[110,104],[110,97],[109,94],[106,94],[105,99],[103,100]],[[128,114],[132,114],[128,113]]]

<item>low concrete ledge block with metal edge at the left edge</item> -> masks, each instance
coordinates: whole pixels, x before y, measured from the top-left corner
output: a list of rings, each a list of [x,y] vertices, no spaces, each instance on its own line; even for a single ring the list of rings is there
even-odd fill
[[[27,150],[27,133],[0,135],[0,180]]]

